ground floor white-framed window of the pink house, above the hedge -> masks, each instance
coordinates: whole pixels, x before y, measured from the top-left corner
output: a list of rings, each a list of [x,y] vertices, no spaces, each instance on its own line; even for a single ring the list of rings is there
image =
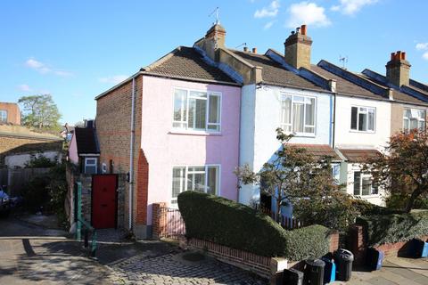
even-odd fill
[[[183,191],[202,191],[218,195],[219,166],[183,166],[172,168],[172,204]]]

